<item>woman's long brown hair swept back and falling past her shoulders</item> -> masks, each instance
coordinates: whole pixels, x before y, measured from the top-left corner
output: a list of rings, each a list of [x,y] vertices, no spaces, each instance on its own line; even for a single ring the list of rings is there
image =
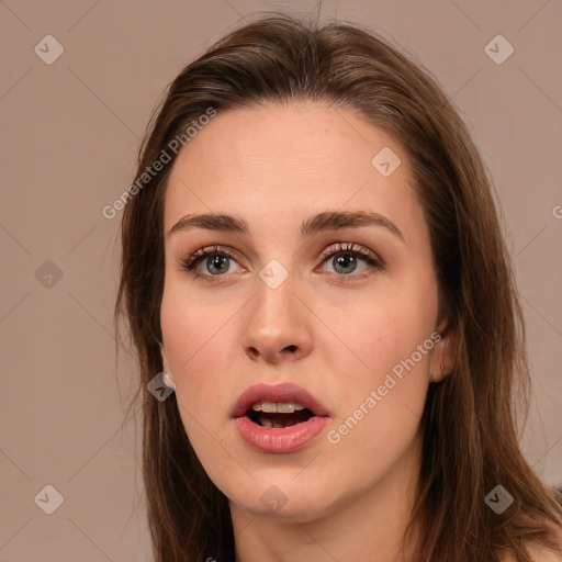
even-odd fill
[[[137,189],[123,214],[115,319],[117,330],[120,318],[128,323],[139,361],[143,468],[156,560],[234,560],[228,499],[199,462],[175,394],[160,402],[146,389],[162,370],[170,143],[183,135],[187,144],[186,127],[210,108],[299,101],[355,110],[402,143],[430,232],[440,315],[459,335],[453,371],[430,384],[422,419],[423,462],[408,527],[422,529],[416,560],[497,561],[505,551],[530,562],[528,542],[555,548],[549,527],[562,525],[562,498],[532,471],[518,445],[515,408],[519,404],[526,413],[529,394],[525,326],[490,175],[427,70],[357,25],[281,13],[228,34],[172,81],[151,116]],[[172,161],[147,180],[143,175],[162,150]],[[484,501],[498,484],[514,497],[503,515]]]

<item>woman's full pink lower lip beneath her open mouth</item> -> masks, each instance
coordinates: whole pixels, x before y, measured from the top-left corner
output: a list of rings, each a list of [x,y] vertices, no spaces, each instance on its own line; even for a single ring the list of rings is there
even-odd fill
[[[327,417],[315,416],[290,427],[263,427],[248,417],[235,418],[240,437],[260,452],[293,452],[311,442],[328,423]]]

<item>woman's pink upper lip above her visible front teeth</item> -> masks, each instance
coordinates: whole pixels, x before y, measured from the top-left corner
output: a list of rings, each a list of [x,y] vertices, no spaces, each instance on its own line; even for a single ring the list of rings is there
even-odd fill
[[[328,409],[322,402],[301,386],[289,382],[274,385],[258,383],[249,386],[236,401],[232,416],[244,416],[258,402],[295,402],[308,408],[316,416],[329,416]]]

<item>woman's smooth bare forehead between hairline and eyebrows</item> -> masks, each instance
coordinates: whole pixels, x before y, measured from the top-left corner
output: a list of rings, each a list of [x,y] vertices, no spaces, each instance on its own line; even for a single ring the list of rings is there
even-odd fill
[[[398,158],[390,176],[381,173],[378,166]],[[244,216],[250,227],[272,218],[300,225],[327,209],[384,214],[405,238],[424,227],[407,154],[392,136],[347,109],[268,104],[218,112],[182,148],[168,181],[165,228],[210,211]]]

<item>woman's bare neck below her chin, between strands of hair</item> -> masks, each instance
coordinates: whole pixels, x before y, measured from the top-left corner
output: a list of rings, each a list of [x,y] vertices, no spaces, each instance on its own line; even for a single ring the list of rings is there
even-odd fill
[[[330,504],[307,521],[266,519],[231,503],[236,562],[411,562],[416,532],[402,552],[419,476],[422,438],[369,490]],[[327,491],[329,494],[329,491]]]

